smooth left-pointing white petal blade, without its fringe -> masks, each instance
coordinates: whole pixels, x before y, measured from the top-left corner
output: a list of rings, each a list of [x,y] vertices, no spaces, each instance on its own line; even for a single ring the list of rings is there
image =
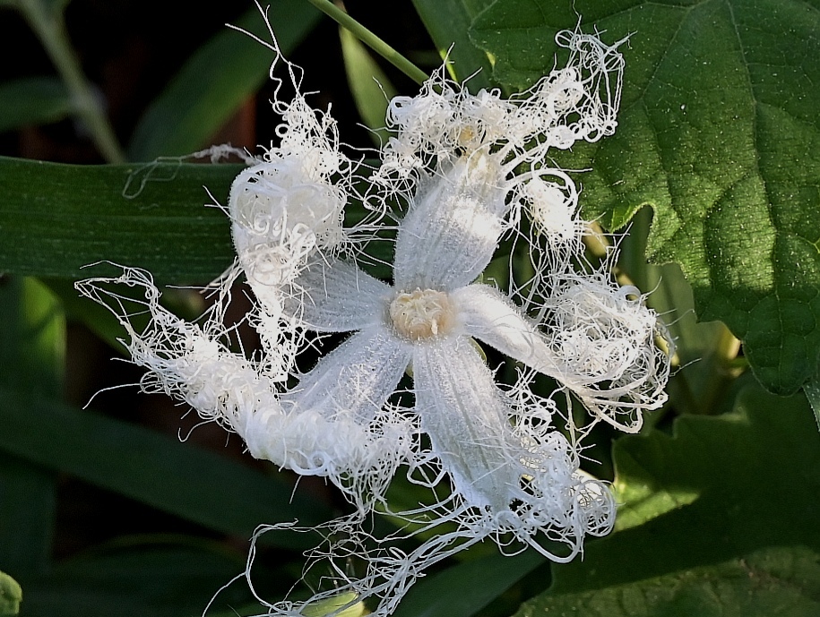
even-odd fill
[[[322,261],[304,270],[295,281],[285,313],[298,317],[311,330],[349,332],[382,320],[393,290],[347,261]]]

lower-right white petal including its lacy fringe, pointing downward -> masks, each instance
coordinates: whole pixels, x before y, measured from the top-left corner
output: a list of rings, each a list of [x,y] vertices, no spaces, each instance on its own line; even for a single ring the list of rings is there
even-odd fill
[[[583,537],[609,533],[615,504],[583,477],[574,447],[542,401],[512,407],[466,337],[419,345],[413,356],[416,411],[431,450],[457,493],[449,515],[461,534],[509,533],[554,561],[570,561]]]

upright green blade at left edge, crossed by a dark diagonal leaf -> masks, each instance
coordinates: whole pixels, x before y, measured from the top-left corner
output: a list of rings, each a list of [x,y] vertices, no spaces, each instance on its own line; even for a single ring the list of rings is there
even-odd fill
[[[65,315],[35,279],[0,279],[0,387],[28,400],[60,396],[65,363]],[[2,432],[8,429],[2,422]],[[2,566],[27,578],[46,570],[56,512],[56,476],[0,453]]]

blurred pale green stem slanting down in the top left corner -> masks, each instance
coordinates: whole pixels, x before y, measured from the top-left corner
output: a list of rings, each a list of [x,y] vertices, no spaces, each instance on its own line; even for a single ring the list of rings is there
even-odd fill
[[[18,0],[16,5],[65,82],[73,99],[73,107],[88,127],[91,141],[99,153],[109,163],[125,162],[125,152],[117,141],[99,98],[91,89],[91,83],[82,73],[80,62],[69,42],[62,11],[49,9],[42,0]]]

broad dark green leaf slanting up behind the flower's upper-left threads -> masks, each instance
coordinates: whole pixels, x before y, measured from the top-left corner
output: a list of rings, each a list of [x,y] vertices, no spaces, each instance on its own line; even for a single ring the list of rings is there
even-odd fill
[[[319,21],[321,13],[304,0],[271,3],[268,16],[286,56]],[[270,40],[256,8],[236,23]],[[242,32],[225,30],[201,47],[168,88],[149,107],[134,130],[128,148],[132,160],[192,153],[208,140],[255,93],[268,77],[273,52]]]

